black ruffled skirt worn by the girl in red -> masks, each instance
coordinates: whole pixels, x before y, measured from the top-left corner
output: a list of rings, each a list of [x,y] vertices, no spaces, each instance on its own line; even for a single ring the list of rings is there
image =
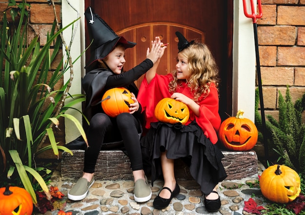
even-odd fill
[[[168,159],[186,161],[191,176],[201,185],[205,195],[227,177],[221,163],[224,155],[206,138],[195,121],[189,125],[151,123],[151,128],[141,139],[141,149],[145,172],[151,173],[152,183],[162,175],[160,156],[164,151],[167,151]]]

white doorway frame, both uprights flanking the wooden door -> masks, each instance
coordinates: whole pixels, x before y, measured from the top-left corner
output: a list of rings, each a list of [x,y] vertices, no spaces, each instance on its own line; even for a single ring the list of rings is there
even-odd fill
[[[78,11],[80,20],[76,29],[76,35],[71,47],[71,57],[76,59],[85,50],[85,0],[73,0],[72,6]],[[256,5],[256,0],[254,0]],[[247,4],[247,6],[250,3]],[[77,16],[74,9],[66,0],[62,1],[62,26],[65,27]],[[250,11],[250,8],[248,8]],[[72,34],[72,28],[63,32],[66,43],[69,44]],[[64,48],[64,47],[63,47]],[[65,51],[63,52],[65,53]],[[234,116],[239,109],[245,111],[244,117],[254,122],[255,112],[255,45],[252,19],[246,18],[243,11],[243,0],[233,0],[233,44],[232,44],[232,113]],[[69,90],[71,94],[82,93],[81,78],[85,75],[85,54],[74,64],[74,79],[72,87]],[[64,75],[64,82],[69,80],[70,73]],[[77,109],[81,110],[79,104]],[[82,123],[81,115],[77,111],[69,110],[80,123]],[[65,120],[65,139],[66,143],[74,140],[79,136],[75,125],[70,120]]]

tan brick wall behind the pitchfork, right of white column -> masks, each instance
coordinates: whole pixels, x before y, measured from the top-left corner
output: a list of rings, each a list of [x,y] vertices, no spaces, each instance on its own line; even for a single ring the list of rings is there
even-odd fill
[[[305,93],[305,0],[262,0],[257,21],[265,114],[278,119],[279,91]]]

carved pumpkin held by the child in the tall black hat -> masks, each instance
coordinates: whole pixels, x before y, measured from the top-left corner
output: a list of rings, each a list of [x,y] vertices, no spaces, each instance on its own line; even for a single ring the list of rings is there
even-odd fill
[[[102,98],[102,108],[111,117],[116,117],[120,113],[129,112],[129,107],[132,103],[134,103],[132,94],[126,88],[107,90]]]

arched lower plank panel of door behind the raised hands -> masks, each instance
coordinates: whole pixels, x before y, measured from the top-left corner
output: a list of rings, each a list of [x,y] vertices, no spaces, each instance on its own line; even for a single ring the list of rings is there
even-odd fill
[[[124,36],[125,38],[135,38],[133,42],[137,43],[135,46],[135,53],[130,49],[126,50],[127,60],[124,69],[132,69],[134,65],[141,63],[146,58],[146,51],[147,48],[151,46],[151,41],[155,36],[160,36],[161,40],[164,43],[169,43],[169,45],[161,59],[157,72],[159,74],[167,74],[175,70],[176,56],[178,53],[178,38],[175,35],[176,31],[180,31],[186,37],[189,36],[189,38],[196,38],[200,41],[205,40],[203,32],[190,29],[187,26],[179,26],[175,23],[145,23],[116,32],[117,35]],[[128,60],[133,58],[136,59],[136,62]],[[137,86],[140,86],[143,76],[136,81]]]

